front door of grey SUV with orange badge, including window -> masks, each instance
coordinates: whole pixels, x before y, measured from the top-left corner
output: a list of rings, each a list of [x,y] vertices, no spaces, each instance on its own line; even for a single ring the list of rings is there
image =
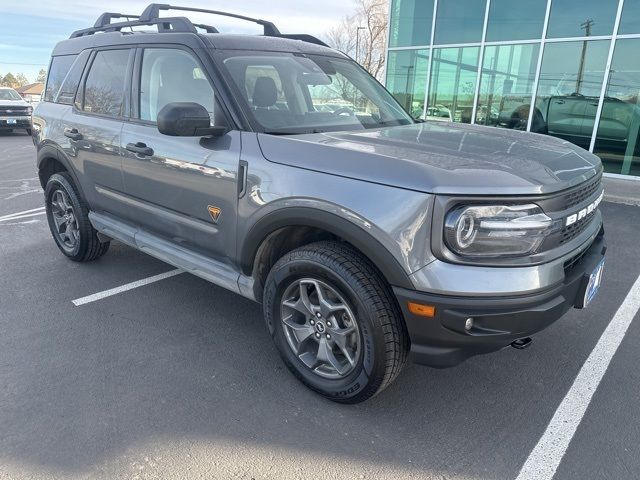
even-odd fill
[[[156,120],[169,103],[198,103],[219,120],[213,85],[188,50],[145,48],[136,65],[136,118],[125,124],[121,138],[129,218],[173,243],[229,257],[235,253],[240,132],[219,138],[162,135]]]

